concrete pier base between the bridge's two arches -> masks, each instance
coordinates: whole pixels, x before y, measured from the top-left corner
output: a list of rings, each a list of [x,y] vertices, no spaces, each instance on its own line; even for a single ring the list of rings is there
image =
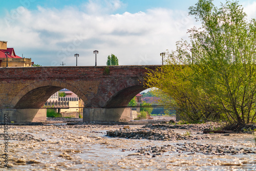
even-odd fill
[[[83,108],[83,122],[129,122],[130,108]]]

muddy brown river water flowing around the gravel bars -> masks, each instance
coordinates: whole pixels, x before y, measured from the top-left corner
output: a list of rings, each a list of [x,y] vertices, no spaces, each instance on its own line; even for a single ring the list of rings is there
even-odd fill
[[[256,170],[256,154],[218,156],[166,152],[156,157],[131,156],[140,147],[176,145],[183,142],[232,145],[237,148],[251,148],[255,151],[255,136],[251,134],[210,135],[213,139],[197,141],[151,141],[105,137],[107,130],[120,127],[122,126],[9,127],[9,134],[31,134],[44,141],[9,140],[10,168],[0,168],[0,170]],[[175,131],[185,132],[184,130]],[[0,142],[2,153],[3,140]],[[3,159],[0,161],[3,166]]]

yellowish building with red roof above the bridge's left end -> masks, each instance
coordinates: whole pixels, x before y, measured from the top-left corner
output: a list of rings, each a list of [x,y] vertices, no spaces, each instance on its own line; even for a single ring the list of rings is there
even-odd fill
[[[6,52],[9,53],[6,58]],[[31,58],[22,58],[15,54],[13,48],[7,48],[7,41],[0,41],[0,67],[32,67]]]

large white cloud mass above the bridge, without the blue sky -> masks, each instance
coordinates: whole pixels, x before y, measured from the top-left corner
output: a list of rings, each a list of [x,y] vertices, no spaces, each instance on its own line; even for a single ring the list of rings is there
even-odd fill
[[[188,37],[187,29],[195,25],[185,11],[158,8],[113,15],[110,12],[121,8],[120,1],[95,2],[84,5],[86,10],[23,8],[16,18],[9,16],[9,23],[0,19],[5,23],[0,25],[1,39],[16,54],[24,53],[42,66],[60,66],[62,61],[74,66],[75,53],[80,54],[79,66],[94,66],[94,50],[99,51],[98,65],[105,65],[111,53],[119,65],[159,65],[160,53],[174,49],[175,42]],[[98,9],[102,12],[96,15]]]

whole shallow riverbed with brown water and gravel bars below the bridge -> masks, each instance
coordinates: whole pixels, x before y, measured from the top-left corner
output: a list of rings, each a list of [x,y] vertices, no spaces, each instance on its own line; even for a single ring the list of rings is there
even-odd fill
[[[0,170],[256,170],[253,134],[202,134],[217,123],[171,126],[9,125],[8,168],[0,158]]]

